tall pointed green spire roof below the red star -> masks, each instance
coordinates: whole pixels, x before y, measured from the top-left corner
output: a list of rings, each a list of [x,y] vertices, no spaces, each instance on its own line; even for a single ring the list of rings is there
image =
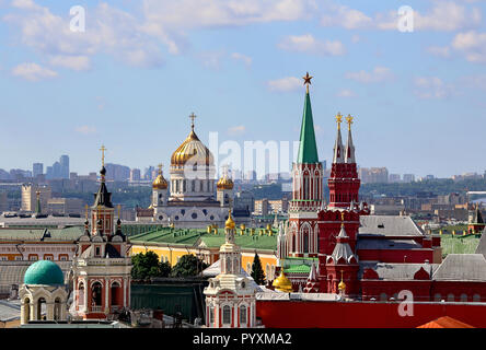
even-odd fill
[[[315,143],[314,121],[312,120],[311,97],[305,93],[298,163],[317,163],[317,145]]]

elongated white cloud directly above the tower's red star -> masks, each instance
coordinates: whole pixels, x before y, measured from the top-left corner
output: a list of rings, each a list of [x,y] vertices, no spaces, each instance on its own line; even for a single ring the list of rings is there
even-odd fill
[[[289,35],[278,44],[278,47],[289,51],[309,52],[323,56],[342,56],[346,54],[346,49],[339,40],[321,42],[315,39],[311,34]]]

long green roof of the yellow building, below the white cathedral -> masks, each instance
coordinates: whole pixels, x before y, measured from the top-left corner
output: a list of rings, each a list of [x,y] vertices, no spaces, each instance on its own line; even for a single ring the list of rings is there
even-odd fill
[[[273,230],[273,235],[259,235],[259,229],[255,230],[253,236],[246,232],[244,235],[240,234],[241,230],[236,230],[235,243],[242,248],[255,248],[264,250],[277,249],[277,231]],[[202,243],[208,248],[218,248],[224,243],[224,229],[218,229],[218,233],[208,233],[204,229],[170,229],[161,228],[159,230],[150,231],[130,236],[132,244],[171,244],[183,246],[197,246]]]

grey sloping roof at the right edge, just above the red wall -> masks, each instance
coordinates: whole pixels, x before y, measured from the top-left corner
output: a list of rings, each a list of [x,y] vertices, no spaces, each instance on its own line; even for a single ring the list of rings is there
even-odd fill
[[[449,254],[433,273],[437,281],[486,281],[483,254]]]

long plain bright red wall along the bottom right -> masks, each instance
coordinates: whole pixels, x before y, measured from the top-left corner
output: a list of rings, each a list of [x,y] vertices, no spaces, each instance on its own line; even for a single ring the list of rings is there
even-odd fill
[[[486,304],[418,303],[402,317],[398,303],[257,301],[267,328],[415,328],[441,316],[486,328]]]

